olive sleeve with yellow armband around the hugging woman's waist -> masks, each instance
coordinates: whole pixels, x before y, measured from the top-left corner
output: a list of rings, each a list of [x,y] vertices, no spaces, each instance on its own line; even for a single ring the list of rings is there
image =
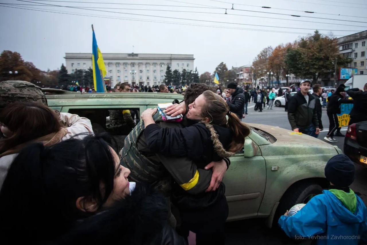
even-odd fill
[[[161,163],[172,178],[189,194],[204,192],[210,184],[212,170],[197,168],[188,157],[169,157],[159,154]]]

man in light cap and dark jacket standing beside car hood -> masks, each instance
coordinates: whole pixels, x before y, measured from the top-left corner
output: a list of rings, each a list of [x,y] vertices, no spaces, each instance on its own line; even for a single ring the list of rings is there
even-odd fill
[[[301,88],[288,102],[288,121],[294,132],[316,137],[319,134],[319,120],[316,113],[316,101],[308,90],[311,81],[302,80]]]

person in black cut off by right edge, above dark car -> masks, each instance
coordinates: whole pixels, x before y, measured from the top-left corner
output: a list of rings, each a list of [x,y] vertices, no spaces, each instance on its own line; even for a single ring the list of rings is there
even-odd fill
[[[346,93],[354,100],[354,106],[350,111],[349,125],[367,121],[367,84],[364,85],[363,91],[360,91],[359,88],[352,88]]]

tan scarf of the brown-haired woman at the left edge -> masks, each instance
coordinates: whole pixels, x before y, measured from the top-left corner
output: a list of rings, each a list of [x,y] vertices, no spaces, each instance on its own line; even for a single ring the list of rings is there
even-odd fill
[[[20,145],[17,145],[15,147],[7,150],[6,152],[1,153],[0,157],[10,155],[10,154],[19,153],[23,148],[30,145],[31,143],[42,142],[44,146],[55,145],[56,143],[60,142],[62,137],[65,136],[67,133],[68,133],[68,129],[61,128],[58,132],[54,132],[54,133],[51,133],[51,134],[48,134],[48,135],[44,135],[44,136],[42,136],[40,138],[37,138],[37,139],[34,139],[32,141],[21,143]]]

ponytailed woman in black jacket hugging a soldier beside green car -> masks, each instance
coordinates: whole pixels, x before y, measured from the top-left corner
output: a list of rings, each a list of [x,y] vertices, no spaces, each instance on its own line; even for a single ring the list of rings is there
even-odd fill
[[[198,168],[204,168],[211,161],[233,156],[243,148],[245,137],[251,130],[236,114],[230,113],[221,96],[207,90],[188,107],[186,118],[194,124],[186,128],[160,128],[152,117],[156,109],[142,113],[144,135],[151,151],[168,156],[187,156]],[[195,181],[194,177],[192,182]],[[183,234],[187,235],[188,230],[195,232],[198,245],[224,244],[224,224],[228,217],[224,184],[213,192],[198,195],[187,194],[185,188],[190,188],[190,182],[186,186],[176,185],[172,194],[180,211]]]

